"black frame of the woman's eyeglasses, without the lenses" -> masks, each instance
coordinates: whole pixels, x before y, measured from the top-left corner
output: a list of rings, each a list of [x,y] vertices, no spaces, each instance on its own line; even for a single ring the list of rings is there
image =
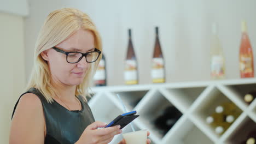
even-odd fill
[[[94,52],[96,52],[96,53],[98,53],[98,57],[100,57],[100,55],[101,55],[101,51],[100,50],[98,50],[98,49],[94,49],[94,51],[90,51],[90,52],[86,52],[86,53],[82,53],[82,52],[77,52],[77,51],[71,51],[71,52],[66,52],[66,51],[63,51],[63,50],[61,50],[61,49],[59,49],[59,48],[57,48],[57,47],[53,47],[53,49],[55,50],[55,51],[57,51],[57,52],[60,52],[60,53],[64,53],[65,55],[66,55],[66,61],[68,62],[68,60],[67,60],[67,57],[68,57],[68,54],[69,53],[81,53],[82,54],[82,57],[80,57],[79,59],[78,59],[78,61],[77,62],[74,62],[74,63],[78,63],[78,62],[80,62],[81,61],[81,59],[83,58],[83,57],[85,57],[85,59],[86,59],[86,62],[88,62],[87,61],[87,55],[89,54],[89,53],[94,53]],[[97,61],[97,59],[98,59],[98,57],[96,58],[96,60],[95,61],[92,61],[92,62],[88,62],[88,63],[94,63],[94,62],[96,62]],[[68,63],[71,63],[71,62],[68,62]]]

